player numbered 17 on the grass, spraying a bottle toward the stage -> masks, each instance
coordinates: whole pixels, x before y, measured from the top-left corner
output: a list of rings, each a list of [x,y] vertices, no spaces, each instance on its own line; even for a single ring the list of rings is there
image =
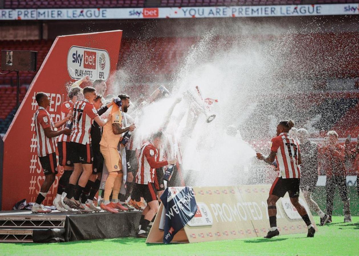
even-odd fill
[[[299,183],[300,183],[300,150],[297,141],[288,132],[294,127],[291,120],[280,121],[277,126],[277,136],[271,140],[270,155],[264,157],[257,153],[257,158],[271,164],[276,159],[279,175],[269,191],[267,199],[270,231],[265,238],[272,238],[279,235],[277,228],[277,207],[276,202],[283,197],[286,192],[289,194],[290,202],[297,209],[300,216],[308,226],[307,237],[314,237],[315,229],[309,219],[306,209],[299,203]]]

